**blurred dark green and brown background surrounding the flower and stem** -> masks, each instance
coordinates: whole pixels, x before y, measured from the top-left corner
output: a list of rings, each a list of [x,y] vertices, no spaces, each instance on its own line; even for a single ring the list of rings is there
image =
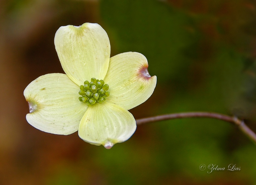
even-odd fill
[[[3,88],[20,79],[15,101],[1,94],[7,98],[0,184],[256,183],[256,147],[234,125],[207,118],[140,125],[131,139],[106,150],[76,133],[31,127],[22,96],[36,77],[63,73],[53,43],[60,26],[97,22],[108,33],[111,56],[140,52],[157,76],[153,95],[130,110],[135,118],[214,111],[243,118],[256,131],[254,1],[12,0],[1,2],[0,12]],[[18,112],[12,119],[10,110]],[[201,164],[241,170],[208,174]]]

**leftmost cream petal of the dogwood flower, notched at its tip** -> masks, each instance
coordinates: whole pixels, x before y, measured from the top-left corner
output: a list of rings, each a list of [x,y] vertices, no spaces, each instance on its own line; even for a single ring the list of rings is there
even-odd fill
[[[38,77],[24,90],[30,113],[26,119],[35,128],[68,135],[78,130],[87,106],[78,100],[79,86],[67,75],[54,73]]]

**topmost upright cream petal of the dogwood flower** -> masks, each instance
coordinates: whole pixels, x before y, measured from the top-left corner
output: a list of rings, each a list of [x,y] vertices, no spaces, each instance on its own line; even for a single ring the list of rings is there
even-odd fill
[[[61,26],[54,38],[61,65],[77,85],[91,78],[103,79],[108,71],[110,43],[98,24]]]

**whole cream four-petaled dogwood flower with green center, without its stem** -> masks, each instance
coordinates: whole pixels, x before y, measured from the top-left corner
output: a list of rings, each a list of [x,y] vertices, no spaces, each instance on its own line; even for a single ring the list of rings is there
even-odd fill
[[[136,52],[110,58],[110,43],[98,24],[61,26],[55,48],[66,74],[38,77],[24,90],[28,123],[53,134],[78,130],[84,141],[111,148],[129,139],[136,122],[128,111],[156,87],[148,61]]]

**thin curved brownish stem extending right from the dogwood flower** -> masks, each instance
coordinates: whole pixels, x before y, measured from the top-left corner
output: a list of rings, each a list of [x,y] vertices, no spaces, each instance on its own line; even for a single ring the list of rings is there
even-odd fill
[[[183,113],[165,114],[165,115],[159,115],[154,117],[136,119],[136,124],[141,125],[149,122],[163,121],[163,120],[176,119],[176,118],[185,118],[185,117],[209,117],[209,118],[220,119],[223,121],[233,123],[237,125],[238,128],[242,132],[244,132],[246,136],[252,139],[254,144],[256,144],[256,134],[247,125],[245,125],[243,120],[240,120],[237,117],[231,117],[228,115],[219,114],[215,112],[183,112]]]

